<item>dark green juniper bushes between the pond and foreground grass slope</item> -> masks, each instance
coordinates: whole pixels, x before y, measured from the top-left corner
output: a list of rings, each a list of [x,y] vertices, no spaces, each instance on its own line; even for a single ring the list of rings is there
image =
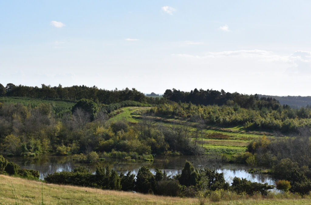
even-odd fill
[[[70,184],[79,186],[97,187],[101,189],[113,189],[123,191],[137,191],[140,193],[158,194],[166,196],[195,197],[204,193],[205,196],[214,196],[217,190],[234,191],[237,194],[246,192],[249,195],[260,192],[267,195],[269,189],[274,186],[253,183],[246,179],[234,178],[232,186],[225,182],[223,173],[217,173],[209,169],[198,171],[186,161],[181,174],[167,176],[161,170],[156,169],[153,175],[148,167],[139,169],[136,180],[134,174],[128,172],[117,174],[107,167],[97,166],[95,174],[84,167],[77,167],[72,172],[55,172],[44,178],[48,183]],[[216,200],[216,199],[215,199]]]

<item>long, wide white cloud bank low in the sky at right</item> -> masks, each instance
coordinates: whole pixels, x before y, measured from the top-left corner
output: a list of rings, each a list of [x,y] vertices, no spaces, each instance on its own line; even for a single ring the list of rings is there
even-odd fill
[[[210,64],[217,62],[220,65],[226,62],[226,66],[239,67],[239,69],[259,71],[265,70],[269,72],[282,72],[287,75],[292,74],[311,74],[311,52],[310,51],[295,51],[290,55],[280,55],[272,51],[265,50],[237,50],[237,51],[221,51],[207,52],[204,55],[191,54],[173,54],[185,59],[193,59],[192,61],[204,62]],[[259,66],[261,65],[261,66]]]

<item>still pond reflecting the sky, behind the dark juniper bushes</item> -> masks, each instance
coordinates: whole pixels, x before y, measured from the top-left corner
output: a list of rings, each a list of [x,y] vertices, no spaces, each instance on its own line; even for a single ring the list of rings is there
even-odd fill
[[[203,160],[202,160],[203,158]],[[14,162],[21,166],[21,168],[35,169],[40,173],[40,179],[54,172],[71,171],[78,166],[89,167],[92,172],[95,172],[97,163],[84,164],[72,160],[72,156],[53,156],[40,155],[36,157],[7,157],[8,161]],[[135,175],[142,166],[147,166],[150,171],[155,174],[155,169],[165,171],[168,175],[176,175],[181,173],[185,161],[190,161],[195,167],[200,168],[202,164],[206,164],[207,157],[201,156],[156,156],[154,162],[144,162],[143,160],[137,162],[128,162],[120,159],[106,159],[104,162],[99,162],[102,166],[109,166],[118,173],[127,173],[131,171]],[[252,182],[268,183],[274,185],[275,180],[266,174],[248,173],[250,167],[242,164],[222,164],[218,172],[224,172],[224,177],[227,182],[231,182],[234,176],[243,177]]]

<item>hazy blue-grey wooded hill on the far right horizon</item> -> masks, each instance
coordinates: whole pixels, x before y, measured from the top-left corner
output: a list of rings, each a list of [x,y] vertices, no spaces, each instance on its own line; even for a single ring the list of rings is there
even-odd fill
[[[301,108],[311,105],[311,96],[267,96],[267,95],[258,95],[261,97],[272,97],[276,100],[279,100],[281,105],[289,105],[291,108]]]

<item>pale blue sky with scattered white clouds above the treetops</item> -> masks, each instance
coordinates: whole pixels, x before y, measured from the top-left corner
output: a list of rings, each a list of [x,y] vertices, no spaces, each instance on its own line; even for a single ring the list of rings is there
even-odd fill
[[[311,1],[0,0],[0,83],[311,96]]]

